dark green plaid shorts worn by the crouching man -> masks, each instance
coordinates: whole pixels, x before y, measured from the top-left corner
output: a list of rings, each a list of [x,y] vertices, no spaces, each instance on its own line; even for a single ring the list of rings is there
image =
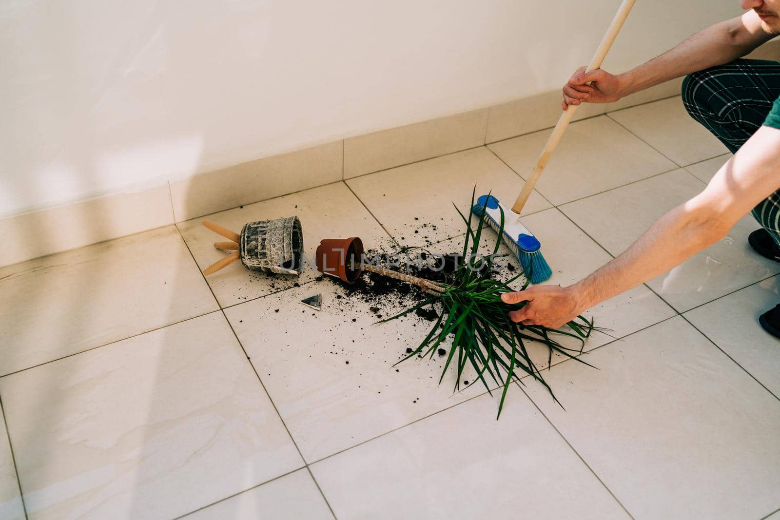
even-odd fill
[[[693,119],[736,153],[780,97],[780,62],[738,59],[686,76],[683,104]],[[753,217],[780,246],[780,189],[759,203]]]

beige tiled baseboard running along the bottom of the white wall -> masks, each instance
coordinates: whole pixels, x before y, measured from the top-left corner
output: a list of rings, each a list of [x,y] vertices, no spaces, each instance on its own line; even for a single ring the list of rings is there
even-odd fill
[[[780,39],[748,58],[780,59]],[[679,94],[682,79],[612,104],[585,104],[575,120]],[[133,193],[116,193],[0,219],[0,267],[198,218],[243,204],[351,179],[402,164],[555,126],[559,90],[488,108],[348,137],[195,175]]]

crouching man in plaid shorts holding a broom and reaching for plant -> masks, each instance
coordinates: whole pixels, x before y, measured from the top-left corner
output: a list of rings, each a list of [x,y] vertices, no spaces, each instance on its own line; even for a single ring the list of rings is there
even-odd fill
[[[511,313],[512,320],[561,327],[718,242],[750,210],[763,226],[750,235],[750,245],[780,261],[780,62],[738,59],[780,34],[780,0],[742,0],[741,5],[750,9],[743,16],[707,27],[636,69],[615,76],[601,69],[586,74],[583,68],[563,87],[566,110],[617,101],[688,75],[683,81],[687,111],[735,155],[703,192],[658,219],[587,278],[569,287],[539,285],[505,294],[504,302],[528,302]],[[759,321],[780,338],[780,305]]]

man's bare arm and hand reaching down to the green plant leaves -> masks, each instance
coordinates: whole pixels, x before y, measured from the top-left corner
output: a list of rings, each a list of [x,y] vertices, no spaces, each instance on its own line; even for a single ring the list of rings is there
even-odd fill
[[[658,219],[629,249],[587,278],[562,288],[538,285],[502,296],[529,302],[510,313],[523,324],[561,327],[583,310],[665,273],[722,239],[780,188],[780,129],[761,126],[702,193]]]

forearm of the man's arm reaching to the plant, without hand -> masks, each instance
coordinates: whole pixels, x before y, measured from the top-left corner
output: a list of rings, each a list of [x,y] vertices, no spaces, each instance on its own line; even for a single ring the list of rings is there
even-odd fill
[[[672,269],[725,235],[705,210],[682,204],[658,219],[629,249],[571,288],[588,309]]]

